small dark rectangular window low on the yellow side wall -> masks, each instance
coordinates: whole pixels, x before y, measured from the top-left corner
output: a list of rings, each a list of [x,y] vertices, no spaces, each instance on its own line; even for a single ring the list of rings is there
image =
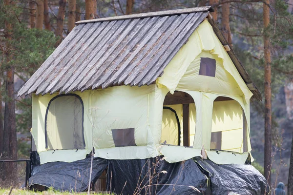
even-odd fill
[[[134,128],[112,129],[112,136],[116,147],[136,146],[134,140]]]

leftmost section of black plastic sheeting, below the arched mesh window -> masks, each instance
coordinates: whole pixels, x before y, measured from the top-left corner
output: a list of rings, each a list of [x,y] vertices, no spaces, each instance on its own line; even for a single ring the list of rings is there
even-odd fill
[[[55,190],[83,192],[88,187],[91,158],[74,162],[48,162],[33,166],[29,186],[39,184]],[[94,158],[91,181],[95,182],[107,167],[107,160]]]

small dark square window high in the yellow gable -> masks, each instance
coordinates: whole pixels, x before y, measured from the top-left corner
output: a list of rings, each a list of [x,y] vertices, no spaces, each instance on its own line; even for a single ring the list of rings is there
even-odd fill
[[[216,60],[211,58],[200,58],[199,75],[215,77]]]

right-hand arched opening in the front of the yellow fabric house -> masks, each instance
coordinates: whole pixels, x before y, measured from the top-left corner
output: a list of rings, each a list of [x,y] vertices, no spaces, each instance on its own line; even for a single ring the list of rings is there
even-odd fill
[[[241,105],[231,98],[216,98],[210,149],[243,153],[248,151],[247,141],[247,122]]]

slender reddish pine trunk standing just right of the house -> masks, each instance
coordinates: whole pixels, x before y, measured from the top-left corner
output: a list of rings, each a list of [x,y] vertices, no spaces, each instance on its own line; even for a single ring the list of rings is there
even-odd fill
[[[270,0],[265,0],[267,4]],[[265,57],[265,160],[264,171],[268,184],[271,185],[272,165],[272,88],[271,88],[271,49],[270,49],[270,8],[263,3],[264,20],[264,57]]]

